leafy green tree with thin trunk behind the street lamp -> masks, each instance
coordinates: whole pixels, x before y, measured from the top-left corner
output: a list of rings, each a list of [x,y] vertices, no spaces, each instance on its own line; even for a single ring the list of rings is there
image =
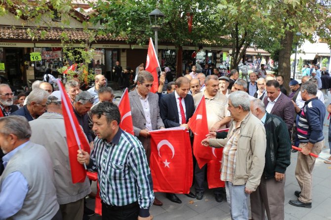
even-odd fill
[[[94,23],[102,21],[100,33],[112,33],[125,37],[128,43],[147,44],[154,36],[148,14],[156,6],[165,14],[164,24],[159,31],[159,41],[170,42],[177,48],[177,76],[181,74],[182,46],[199,44],[219,45],[220,22],[210,18],[216,13],[216,0],[98,0],[94,5]],[[193,14],[192,33],[188,32],[187,13]],[[125,20],[125,22],[124,22]]]

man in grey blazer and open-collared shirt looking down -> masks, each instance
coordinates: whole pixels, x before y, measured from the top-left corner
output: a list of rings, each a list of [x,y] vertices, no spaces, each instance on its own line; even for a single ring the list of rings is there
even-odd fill
[[[137,89],[129,92],[134,136],[142,143],[148,163],[151,156],[149,131],[165,128],[160,116],[159,95],[150,92],[153,80],[150,72],[141,71],[137,77]],[[157,198],[154,199],[153,204],[163,205]]]

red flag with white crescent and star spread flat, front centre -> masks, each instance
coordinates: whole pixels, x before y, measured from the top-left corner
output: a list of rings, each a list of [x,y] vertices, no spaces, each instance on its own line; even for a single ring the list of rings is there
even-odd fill
[[[185,128],[150,131],[155,192],[189,193],[193,178],[190,136]]]

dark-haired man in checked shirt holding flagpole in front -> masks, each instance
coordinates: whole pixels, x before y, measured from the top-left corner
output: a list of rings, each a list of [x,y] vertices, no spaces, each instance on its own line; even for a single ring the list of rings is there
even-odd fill
[[[98,172],[103,220],[152,220],[154,193],[151,171],[139,140],[120,127],[121,115],[112,103],[92,110],[97,135],[91,155],[78,150],[78,161]]]

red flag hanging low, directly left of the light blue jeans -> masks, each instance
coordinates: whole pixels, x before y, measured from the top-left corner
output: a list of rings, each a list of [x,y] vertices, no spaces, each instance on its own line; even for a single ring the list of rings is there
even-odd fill
[[[223,156],[223,147],[210,148],[213,158],[207,163],[207,183],[208,188],[225,187],[224,181],[221,181],[221,165]]]

